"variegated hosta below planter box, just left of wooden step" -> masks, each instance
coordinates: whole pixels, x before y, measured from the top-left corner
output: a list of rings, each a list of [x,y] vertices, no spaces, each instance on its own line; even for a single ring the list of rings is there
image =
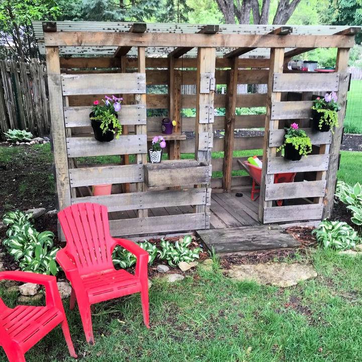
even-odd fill
[[[161,239],[161,250],[159,257],[161,260],[167,260],[170,266],[176,266],[181,261],[192,262],[199,258],[201,248],[191,250],[189,245],[192,238],[186,235],[182,241],[176,241],[174,244],[168,240]]]

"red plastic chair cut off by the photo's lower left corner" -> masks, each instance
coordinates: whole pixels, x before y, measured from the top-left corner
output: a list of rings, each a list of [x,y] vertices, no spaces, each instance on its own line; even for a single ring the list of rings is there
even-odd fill
[[[45,286],[45,307],[8,308],[0,298],[0,345],[10,362],[25,362],[24,354],[46,334],[61,325],[69,353],[76,358],[55,277],[25,272],[2,272],[1,280]]]

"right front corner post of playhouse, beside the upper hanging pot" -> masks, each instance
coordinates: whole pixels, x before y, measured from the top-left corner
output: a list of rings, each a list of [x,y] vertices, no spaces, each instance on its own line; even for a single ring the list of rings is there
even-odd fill
[[[348,83],[349,83],[349,73],[347,72],[348,58],[349,58],[349,49],[339,48],[337,51],[336,71],[340,73],[337,95],[338,95],[338,103],[340,104],[341,109],[338,112],[339,127],[335,128],[334,135],[332,137],[332,142],[329,147],[329,164],[328,164],[328,170],[326,171],[325,175],[326,192],[323,198],[324,208],[323,208],[322,219],[329,218],[331,216],[333,209],[334,188],[335,188],[336,176],[338,170],[339,149],[343,134],[343,121],[345,116]]]

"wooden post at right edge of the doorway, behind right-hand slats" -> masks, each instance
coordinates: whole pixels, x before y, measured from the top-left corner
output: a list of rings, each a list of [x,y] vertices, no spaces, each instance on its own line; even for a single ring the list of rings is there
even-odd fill
[[[260,184],[260,201],[259,201],[259,221],[263,222],[264,209],[272,206],[272,201],[265,201],[265,186],[274,183],[274,174],[267,174],[267,160],[271,156],[276,156],[277,148],[269,147],[269,130],[279,128],[279,120],[271,120],[273,102],[280,102],[282,98],[281,92],[273,92],[274,73],[283,73],[284,63],[284,48],[270,48],[270,68],[267,84],[266,95],[266,116],[265,116],[265,131],[263,158],[261,170]]]

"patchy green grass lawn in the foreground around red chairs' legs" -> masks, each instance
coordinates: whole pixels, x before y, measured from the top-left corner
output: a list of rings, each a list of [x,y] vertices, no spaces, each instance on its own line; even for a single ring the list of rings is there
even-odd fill
[[[305,260],[301,256],[301,260]],[[96,344],[85,343],[77,308],[68,310],[79,360],[89,362],[356,362],[362,355],[362,259],[317,251],[318,277],[281,289],[233,282],[198,269],[183,282],[153,283],[150,329],[138,295],[96,305]],[[12,305],[15,295],[4,295]],[[72,361],[60,328],[28,362]],[[7,359],[0,352],[0,360]]]

